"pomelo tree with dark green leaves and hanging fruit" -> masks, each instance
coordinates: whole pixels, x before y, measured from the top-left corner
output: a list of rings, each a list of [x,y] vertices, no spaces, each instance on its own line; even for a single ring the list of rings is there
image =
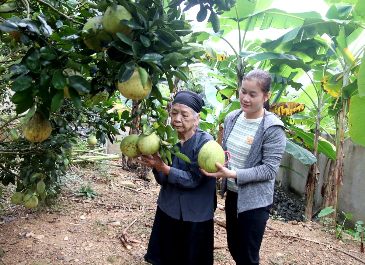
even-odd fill
[[[185,19],[182,2],[1,1],[2,185],[16,185],[16,191],[29,195],[31,206],[33,195],[39,203],[50,203],[61,191],[61,177],[78,142],[76,131],[83,126],[100,143],[106,138],[113,143],[125,127],[134,133],[138,128],[145,135],[157,133],[166,162],[174,153],[186,159],[173,147],[177,135],[163,124],[171,98],[159,89],[166,84],[173,91],[177,79],[188,82],[189,65],[205,53],[197,41],[200,33],[192,32],[191,21]],[[216,13],[229,10],[234,2],[199,4],[216,22]],[[186,4],[188,10],[198,3]],[[143,88],[150,85],[150,92],[134,98],[131,112],[110,111],[120,101],[118,84],[127,82],[136,68],[137,81]],[[23,124],[37,113],[50,122],[51,134],[31,142],[24,137]],[[41,192],[37,184],[42,182]]]

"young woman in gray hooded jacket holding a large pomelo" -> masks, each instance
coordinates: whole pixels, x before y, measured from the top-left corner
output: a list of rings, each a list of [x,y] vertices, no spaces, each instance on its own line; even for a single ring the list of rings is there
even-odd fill
[[[228,249],[237,265],[259,264],[259,251],[273,203],[274,180],[285,150],[283,122],[269,110],[271,76],[255,69],[244,78],[241,109],[226,116],[222,147],[227,167],[217,163],[226,196]]]

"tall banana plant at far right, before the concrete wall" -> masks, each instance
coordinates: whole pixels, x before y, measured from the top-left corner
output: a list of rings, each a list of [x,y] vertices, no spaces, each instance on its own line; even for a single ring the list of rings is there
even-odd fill
[[[365,94],[363,87],[358,85],[359,82],[360,84],[364,82],[364,74],[362,74],[364,70],[360,65],[364,45],[358,47],[354,53],[349,51],[349,45],[359,39],[365,28],[364,18],[358,13],[361,10],[364,11],[364,8],[360,5],[360,1],[356,5],[331,5],[326,18],[307,17],[303,25],[292,29],[276,40],[261,45],[271,51],[285,47],[285,54],[296,54],[301,58],[305,58],[305,55],[307,55],[311,60],[306,63],[313,68],[314,78],[311,78],[311,87],[308,87],[304,92],[312,102],[313,110],[310,113],[314,118],[313,124],[315,126],[312,150],[315,155],[320,148],[319,131],[326,131],[321,123],[322,120],[325,120],[328,116],[334,116],[336,120],[337,133],[335,138],[332,138],[335,142],[336,153],[335,156],[329,156],[333,163],[330,164],[330,174],[323,187],[323,207],[333,206],[334,209],[337,208],[338,188],[343,177],[343,141],[349,139],[348,132],[345,130],[346,125],[349,125],[351,139],[355,143],[364,146],[364,140],[360,137],[360,130],[365,124],[364,119],[358,114],[360,108],[364,107],[365,102],[365,98],[361,98]],[[331,38],[330,43],[319,37],[323,34]],[[322,51],[320,49],[315,49],[316,52],[314,52],[314,49],[310,51],[309,46],[306,51],[298,48],[298,44],[305,46],[308,41],[322,47]],[[323,49],[326,51],[325,53],[323,53]],[[341,71],[338,71],[339,67],[341,67]],[[310,92],[315,93],[310,94]],[[314,101],[314,99],[316,100]],[[303,98],[297,100],[303,100]],[[348,123],[346,122],[347,116],[349,116]],[[306,120],[310,122],[311,119]],[[310,124],[307,125],[310,127]],[[308,219],[311,219],[312,215],[312,198],[316,177],[319,173],[316,168],[317,165],[314,164],[308,171],[305,213]],[[336,212],[331,217],[335,222]]]

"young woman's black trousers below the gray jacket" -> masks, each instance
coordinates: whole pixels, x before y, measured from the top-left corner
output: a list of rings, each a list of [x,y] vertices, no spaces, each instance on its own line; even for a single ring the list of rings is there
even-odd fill
[[[228,249],[237,265],[258,265],[262,237],[272,204],[237,214],[237,195],[234,191],[227,191]]]

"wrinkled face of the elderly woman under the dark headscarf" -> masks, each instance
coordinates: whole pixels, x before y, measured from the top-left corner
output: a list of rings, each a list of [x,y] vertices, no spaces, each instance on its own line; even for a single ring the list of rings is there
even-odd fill
[[[185,134],[195,130],[199,122],[199,116],[195,119],[193,110],[190,107],[176,103],[172,105],[171,125],[176,128],[178,133]]]

